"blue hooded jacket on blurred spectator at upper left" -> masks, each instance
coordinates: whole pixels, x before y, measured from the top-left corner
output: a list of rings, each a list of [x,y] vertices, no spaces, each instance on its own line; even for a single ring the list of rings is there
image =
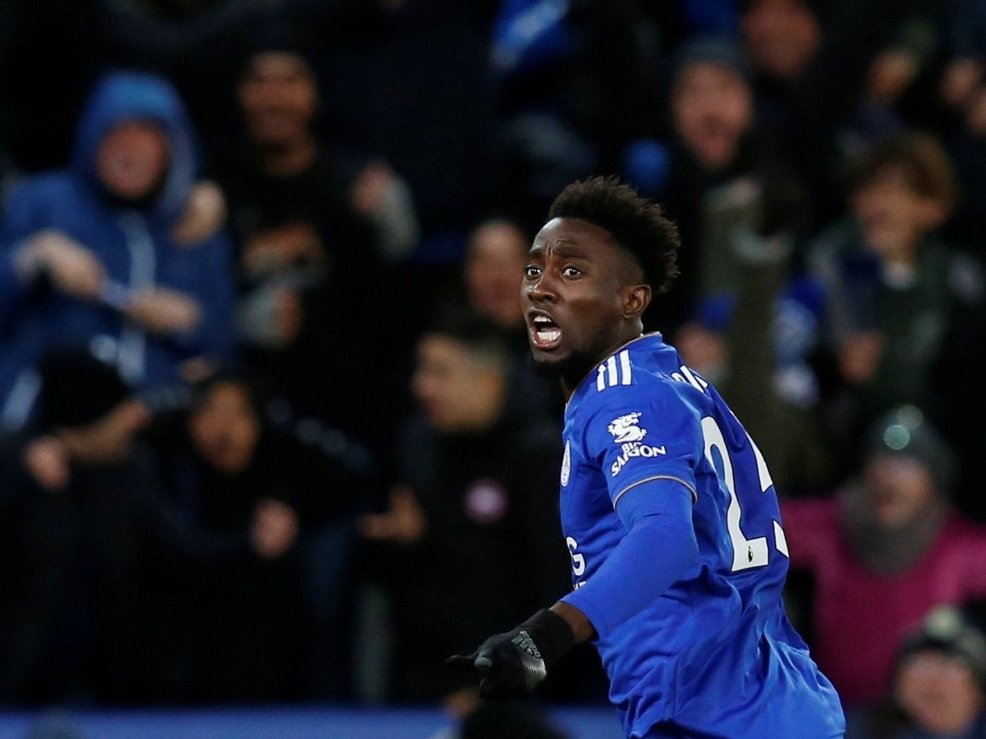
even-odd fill
[[[159,125],[170,151],[160,193],[139,210],[110,197],[96,170],[106,134],[135,120]],[[222,360],[232,351],[227,235],[191,245],[172,236],[197,170],[193,136],[169,83],[147,74],[111,73],[87,103],[71,166],[30,178],[11,193],[0,224],[0,429],[17,428],[30,416],[37,391],[33,368],[49,347],[88,342],[135,388],[176,381],[185,360]],[[170,288],[199,303],[201,320],[184,334],[148,334],[110,301],[81,301],[43,280],[22,281],[14,268],[18,249],[45,230],[93,251],[116,292]]]

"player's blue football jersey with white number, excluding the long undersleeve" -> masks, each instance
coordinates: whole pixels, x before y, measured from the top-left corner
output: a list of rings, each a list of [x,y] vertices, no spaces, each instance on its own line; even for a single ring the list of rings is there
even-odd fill
[[[576,388],[563,440],[576,589],[627,535],[616,512],[624,497],[693,501],[691,571],[629,620],[594,624],[627,734],[841,737],[838,696],[784,613],[788,542],[770,473],[715,389],[660,334],[642,336]]]

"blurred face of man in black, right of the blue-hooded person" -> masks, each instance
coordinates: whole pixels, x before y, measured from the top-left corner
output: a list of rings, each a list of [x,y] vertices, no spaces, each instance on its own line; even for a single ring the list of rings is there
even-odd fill
[[[285,146],[308,135],[317,99],[312,70],[286,51],[257,54],[240,83],[246,130],[260,146]]]

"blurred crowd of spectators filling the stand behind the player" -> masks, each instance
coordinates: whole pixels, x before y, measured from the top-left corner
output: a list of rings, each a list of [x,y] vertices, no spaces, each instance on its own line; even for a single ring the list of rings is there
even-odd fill
[[[597,173],[851,735],[986,737],[979,0],[0,5],[0,703],[481,716],[443,658],[569,586],[518,295]]]

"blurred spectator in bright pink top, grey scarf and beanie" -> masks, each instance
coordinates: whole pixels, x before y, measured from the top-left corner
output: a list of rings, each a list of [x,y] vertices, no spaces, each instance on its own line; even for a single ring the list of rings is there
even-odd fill
[[[813,575],[813,653],[847,706],[880,700],[896,650],[932,608],[986,597],[986,531],[952,511],[953,466],[904,407],[872,430],[858,479],[782,505],[791,567]]]

